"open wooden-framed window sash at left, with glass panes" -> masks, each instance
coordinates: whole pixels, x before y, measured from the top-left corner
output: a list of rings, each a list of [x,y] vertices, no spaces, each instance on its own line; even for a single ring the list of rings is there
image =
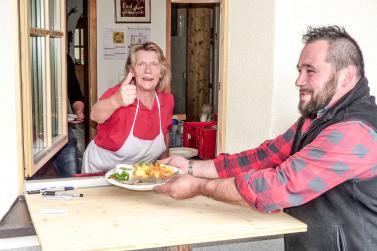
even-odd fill
[[[20,1],[25,177],[67,142],[65,0]]]

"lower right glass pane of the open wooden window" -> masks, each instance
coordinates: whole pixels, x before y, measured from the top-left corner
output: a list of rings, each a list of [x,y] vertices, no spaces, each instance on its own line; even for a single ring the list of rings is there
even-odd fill
[[[62,65],[60,38],[50,38],[51,56],[51,125],[52,140],[63,133],[62,128]]]

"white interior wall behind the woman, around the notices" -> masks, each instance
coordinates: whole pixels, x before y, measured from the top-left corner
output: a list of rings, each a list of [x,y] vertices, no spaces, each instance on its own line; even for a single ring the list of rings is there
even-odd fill
[[[104,28],[150,27],[151,40],[166,51],[166,1],[151,1],[151,23],[115,23],[115,1],[97,0],[97,83],[98,96],[108,88],[119,83],[123,74],[125,60],[108,60],[103,58]]]

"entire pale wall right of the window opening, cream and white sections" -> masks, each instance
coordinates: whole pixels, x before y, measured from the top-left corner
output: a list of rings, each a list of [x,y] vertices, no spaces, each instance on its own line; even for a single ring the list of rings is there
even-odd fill
[[[229,1],[227,152],[258,146],[299,117],[294,82],[308,25],[345,26],[377,93],[377,1]],[[248,11],[244,11],[248,10]]]

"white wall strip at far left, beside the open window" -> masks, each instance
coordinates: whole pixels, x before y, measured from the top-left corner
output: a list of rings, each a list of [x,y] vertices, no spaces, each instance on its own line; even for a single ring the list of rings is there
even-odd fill
[[[18,71],[18,1],[0,1],[0,219],[18,196],[16,87]],[[6,39],[4,39],[6,34]]]

